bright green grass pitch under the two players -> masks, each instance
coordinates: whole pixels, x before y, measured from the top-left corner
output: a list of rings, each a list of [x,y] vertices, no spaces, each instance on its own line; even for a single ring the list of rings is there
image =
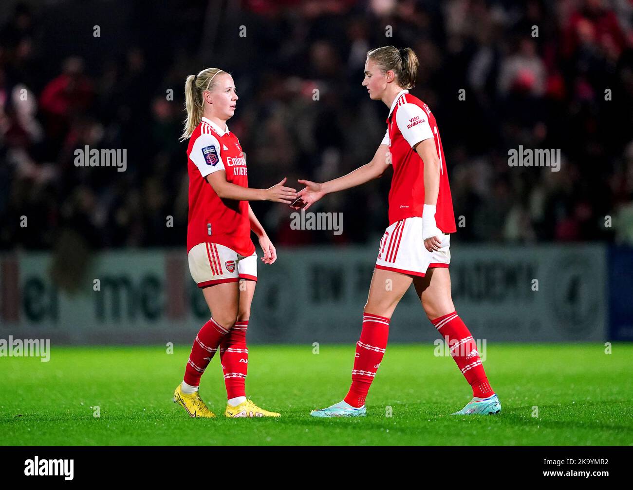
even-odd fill
[[[503,405],[496,416],[449,415],[471,395],[453,359],[434,356],[431,344],[389,345],[367,417],[311,417],[346,394],[354,347],[321,345],[313,354],[311,345],[249,345],[247,395],[280,419],[223,416],[219,356],[201,383],[218,417],[189,418],[172,403],[188,345],[173,354],[159,345],[53,347],[47,363],[0,358],[0,444],[633,444],[633,345],[605,354],[602,344],[489,344],[484,366]]]

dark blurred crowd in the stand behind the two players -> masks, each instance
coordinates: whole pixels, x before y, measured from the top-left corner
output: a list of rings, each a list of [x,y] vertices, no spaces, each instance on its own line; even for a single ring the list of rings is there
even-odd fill
[[[630,0],[9,1],[0,15],[0,248],[184,247],[184,81],[205,67],[234,76],[251,187],[352,171],[385,132],[361,81],[389,44],[420,59],[411,92],[439,124],[458,240],[633,243]],[[85,145],[125,148],[127,170],[75,166]],[[560,171],[510,167],[519,145],[560,149]],[[341,235],[252,206],[275,245],[375,243],[390,180],[311,208],[342,212]]]

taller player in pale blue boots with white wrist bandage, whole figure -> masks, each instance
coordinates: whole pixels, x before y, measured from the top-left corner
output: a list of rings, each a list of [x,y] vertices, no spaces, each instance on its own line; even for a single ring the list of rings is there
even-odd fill
[[[393,165],[389,226],[380,240],[363,311],[352,384],[343,401],[312,411],[313,416],[366,414],[365,397],[387,347],[389,320],[411,282],[432,325],[442,337],[448,337],[451,356],[472,387],[472,400],[454,415],[501,410],[475,340],[451,299],[448,266],[449,234],[456,231],[453,203],[436,119],[429,106],[408,91],[414,86],[417,71],[418,58],[410,48],[385,46],[369,51],[363,86],[372,100],[389,107],[382,143],[371,162],[346,176],[322,184],[299,180],[306,185],[299,192],[299,204],[308,209],[324,195],[376,179]],[[387,281],[391,281],[392,290],[385,288]]]

